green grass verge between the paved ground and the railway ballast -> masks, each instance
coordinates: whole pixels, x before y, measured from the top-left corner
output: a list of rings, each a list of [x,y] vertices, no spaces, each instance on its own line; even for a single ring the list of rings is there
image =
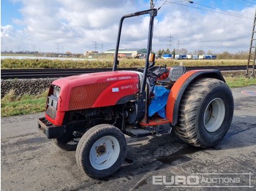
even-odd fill
[[[230,87],[256,85],[256,79],[244,77],[225,77],[225,80]],[[10,91],[4,98],[1,98],[1,117],[44,112],[47,95],[48,90],[39,95],[22,96],[16,96]]]

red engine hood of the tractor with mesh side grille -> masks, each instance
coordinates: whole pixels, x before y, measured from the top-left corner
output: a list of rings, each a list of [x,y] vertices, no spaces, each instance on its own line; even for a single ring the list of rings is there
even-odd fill
[[[107,71],[57,79],[58,111],[112,106],[139,91],[140,72]]]

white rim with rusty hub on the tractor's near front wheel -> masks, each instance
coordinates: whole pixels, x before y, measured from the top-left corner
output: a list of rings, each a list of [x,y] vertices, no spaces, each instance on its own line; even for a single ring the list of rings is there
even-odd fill
[[[97,140],[90,150],[90,163],[97,170],[110,168],[118,159],[120,145],[113,136],[103,136]]]

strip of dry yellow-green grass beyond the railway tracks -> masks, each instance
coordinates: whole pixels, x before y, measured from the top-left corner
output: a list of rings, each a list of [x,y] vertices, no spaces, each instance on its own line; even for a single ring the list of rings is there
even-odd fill
[[[119,67],[134,68],[143,67],[144,59],[120,59]],[[184,66],[237,66],[246,65],[246,60],[165,60],[157,59],[155,66],[176,66],[180,63]],[[1,59],[1,69],[91,69],[91,68],[111,68],[113,67],[112,60],[97,60],[97,61],[60,61],[49,59]]]

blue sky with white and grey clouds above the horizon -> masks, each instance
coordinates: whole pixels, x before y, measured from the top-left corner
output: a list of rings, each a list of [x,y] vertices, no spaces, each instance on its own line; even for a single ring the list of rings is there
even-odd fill
[[[152,50],[248,51],[255,0],[154,0]],[[1,0],[1,51],[83,53],[116,47],[123,15],[150,8],[146,0]],[[146,48],[148,15],[124,20],[121,48]]]

